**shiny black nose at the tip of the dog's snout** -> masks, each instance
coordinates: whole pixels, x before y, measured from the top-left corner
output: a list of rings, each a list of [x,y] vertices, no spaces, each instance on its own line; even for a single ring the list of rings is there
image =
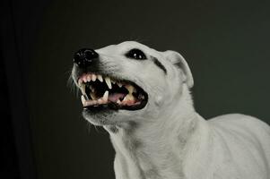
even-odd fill
[[[99,54],[96,53],[93,49],[83,48],[74,54],[74,64],[77,64],[79,67],[88,67],[98,60]]]

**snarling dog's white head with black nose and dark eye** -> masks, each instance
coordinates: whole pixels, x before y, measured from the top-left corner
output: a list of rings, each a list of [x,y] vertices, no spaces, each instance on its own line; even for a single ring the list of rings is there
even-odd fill
[[[95,125],[158,117],[179,101],[184,87],[193,86],[179,53],[159,52],[134,41],[79,50],[72,77],[83,94],[83,116]]]

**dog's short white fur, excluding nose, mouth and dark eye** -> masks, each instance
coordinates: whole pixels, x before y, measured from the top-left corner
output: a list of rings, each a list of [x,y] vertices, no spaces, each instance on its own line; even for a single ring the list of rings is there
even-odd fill
[[[150,59],[126,58],[126,51],[135,47],[156,57],[167,74]],[[97,52],[108,71],[134,81],[149,95],[143,109],[120,110],[102,121],[116,150],[117,179],[270,178],[269,126],[248,115],[207,121],[198,115],[189,92],[192,74],[177,52],[159,52],[130,41]],[[86,119],[100,124],[94,116]]]

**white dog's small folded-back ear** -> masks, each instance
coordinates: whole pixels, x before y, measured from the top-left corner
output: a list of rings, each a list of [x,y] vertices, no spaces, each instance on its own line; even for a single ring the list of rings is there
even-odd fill
[[[187,83],[188,88],[192,88],[194,84],[192,73],[184,57],[178,52],[172,50],[167,50],[164,52],[164,54],[172,64],[176,65],[182,70],[182,72],[184,73],[184,82]]]

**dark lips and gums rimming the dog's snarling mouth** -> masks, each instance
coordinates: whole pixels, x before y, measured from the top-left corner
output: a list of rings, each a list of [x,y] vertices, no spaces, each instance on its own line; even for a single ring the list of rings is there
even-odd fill
[[[102,73],[84,72],[83,74],[81,74],[80,76],[77,77],[77,81],[76,82],[77,82],[77,86],[79,88],[81,87],[81,85],[82,85],[83,82],[89,81],[89,80],[90,81],[93,80],[93,79],[88,79],[88,80],[87,79],[86,80],[85,79],[82,79],[83,77],[85,78],[85,76],[83,76],[83,75],[86,75],[86,74],[89,74],[89,73],[94,76],[94,81],[98,81],[98,80],[99,81],[101,81],[101,80],[102,81],[106,81],[105,79],[107,79],[107,78],[110,79],[109,80],[109,83],[110,83],[111,79],[114,79],[116,81],[120,81],[120,83],[122,81],[123,83],[126,83],[126,84],[128,84],[130,86],[133,86],[133,88],[140,90],[140,93],[143,95],[144,98],[141,98],[141,99],[138,98],[138,102],[133,103],[133,104],[129,104],[129,105],[123,105],[123,106],[119,106],[118,103],[111,102],[111,101],[109,103],[107,103],[107,104],[105,104],[105,103],[102,104],[100,102],[100,104],[98,104],[98,105],[90,105],[90,106],[83,107],[85,110],[91,110],[91,111],[96,111],[96,112],[101,111],[101,110],[104,110],[106,108],[113,109],[113,110],[119,110],[119,109],[139,110],[139,109],[142,109],[142,108],[144,108],[146,106],[146,104],[148,102],[148,94],[145,92],[145,90],[143,88],[141,88],[139,85],[137,85],[134,81],[126,80],[123,77],[117,77],[116,75],[113,75],[113,74],[103,73],[103,72]],[[116,81],[114,81],[114,82],[116,83]],[[106,81],[106,83],[108,84],[108,81]],[[123,85],[123,84],[121,84],[121,85]],[[128,96],[128,95],[126,95],[126,96]],[[124,98],[124,100],[125,100],[125,98]],[[82,99],[82,102],[83,102],[83,99]]]

